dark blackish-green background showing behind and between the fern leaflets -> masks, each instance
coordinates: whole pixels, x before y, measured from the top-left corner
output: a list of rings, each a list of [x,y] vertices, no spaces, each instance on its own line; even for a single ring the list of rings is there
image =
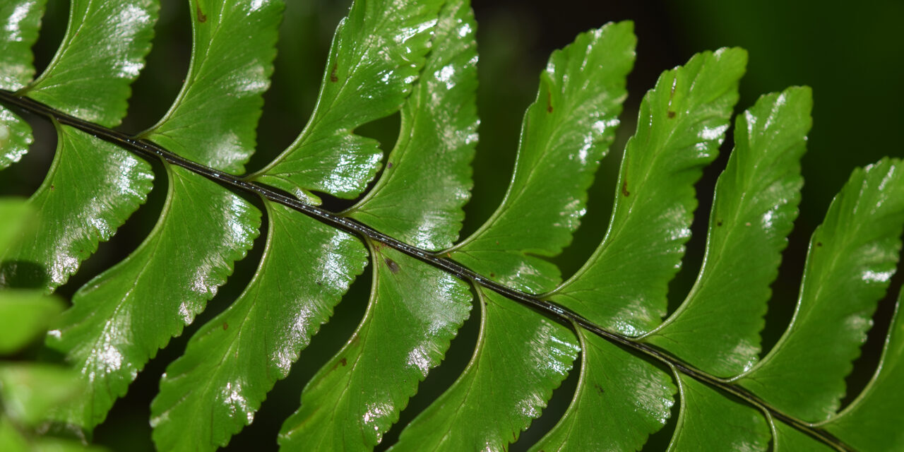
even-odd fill
[[[303,127],[315,101],[322,77],[326,51],[348,1],[289,0],[282,26],[273,84],[265,97],[259,126],[259,153],[248,169],[265,165],[287,146]],[[68,6],[51,1],[44,32],[35,47],[38,70],[50,61],[65,28]],[[590,189],[588,214],[568,250],[556,259],[566,276],[579,268],[596,248],[606,231],[618,156],[636,122],[637,105],[646,89],[652,88],[661,71],[687,61],[693,52],[723,46],[749,50],[748,74],[741,82],[737,111],[748,108],[760,94],[789,85],[809,85],[814,89],[814,127],[808,153],[804,157],[805,188],[801,215],[790,237],[775,296],[769,306],[764,348],[774,344],[787,325],[796,301],[796,290],[805,259],[807,240],[852,168],[869,165],[883,155],[904,156],[904,37],[899,23],[904,19],[904,3],[894,0],[853,3],[806,0],[732,1],[684,0],[673,2],[557,0],[476,0],[480,52],[478,109],[482,124],[475,160],[473,201],[466,207],[467,221],[462,236],[476,230],[501,201],[508,183],[517,146],[523,110],[532,101],[537,77],[549,53],[574,38],[577,33],[609,21],[633,20],[638,35],[635,71],[628,80],[623,123],[617,142]],[[129,116],[123,130],[138,132],[160,118],[175,98],[188,67],[191,32],[188,8],[183,2],[164,0],[156,27],[154,48],[146,70],[134,85]],[[33,119],[37,143],[33,152],[12,169],[0,172],[3,194],[28,195],[41,183],[52,158],[55,137],[40,119]],[[390,149],[397,134],[398,118],[376,121],[362,133],[377,137]],[[712,165],[700,184],[700,208],[687,258],[672,285],[672,307],[683,299],[702,259],[705,224],[712,186],[724,165],[730,139],[723,155]],[[102,244],[82,271],[61,288],[70,296],[81,284],[134,250],[153,226],[163,201],[158,171],[155,191],[149,201],[127,222],[118,235]],[[334,202],[327,207],[340,208]],[[184,350],[187,338],[198,325],[227,306],[248,282],[257,264],[259,246],[248,259],[237,264],[236,274],[185,333],[173,340],[139,374],[126,398],[119,400],[108,421],[96,431],[95,439],[117,450],[151,449],[147,426],[148,404],[153,399],[159,376],[167,363]],[[896,294],[901,278],[893,280]],[[334,319],[317,334],[301,354],[292,374],[279,381],[259,411],[254,424],[233,438],[231,448],[259,449],[275,446],[275,436],[283,419],[297,408],[301,388],[319,366],[332,356],[352,333],[363,315],[370,287],[365,273],[349,296],[336,309]],[[862,388],[876,366],[882,340],[893,308],[886,297],[876,315],[876,325],[856,363],[857,371],[848,379],[853,394]],[[473,316],[475,317],[475,316]],[[476,338],[471,318],[462,329],[442,366],[431,373],[402,413],[400,424],[410,420],[430,400],[443,391],[464,367]],[[549,410],[523,434],[513,449],[523,449],[539,438],[560,416],[570,400],[577,372],[556,391]],[[853,395],[852,394],[852,395]],[[850,400],[849,396],[847,400]],[[846,401],[847,401],[846,400]],[[384,443],[398,435],[393,428]],[[671,427],[654,438],[648,450],[667,441]]]

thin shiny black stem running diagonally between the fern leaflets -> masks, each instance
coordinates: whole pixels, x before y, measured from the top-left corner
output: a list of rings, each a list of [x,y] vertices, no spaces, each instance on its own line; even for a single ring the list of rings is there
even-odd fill
[[[465,266],[457,263],[455,260],[441,257],[440,255],[438,255],[438,253],[428,250],[421,250],[418,247],[409,245],[408,243],[393,239],[392,237],[383,234],[380,231],[373,230],[372,228],[361,222],[355,221],[350,218],[344,218],[336,215],[334,212],[329,212],[314,205],[301,202],[295,197],[280,193],[266,185],[245,181],[240,176],[224,173],[220,170],[195,163],[191,160],[185,159],[184,157],[175,155],[174,153],[166,150],[164,147],[157,146],[145,139],[133,137],[108,127],[99,126],[80,118],[72,117],[71,115],[48,107],[41,102],[16,96],[11,91],[0,89],[0,102],[7,105],[13,105],[19,108],[23,108],[26,111],[30,111],[47,118],[52,118],[60,124],[78,128],[93,135],[94,137],[99,137],[100,139],[103,139],[105,141],[115,143],[138,155],[150,158],[161,158],[168,164],[180,166],[193,173],[201,174],[202,176],[207,177],[214,182],[238,188],[245,192],[257,193],[264,199],[267,199],[271,202],[278,202],[298,212],[305,213],[306,215],[314,217],[319,221],[323,221],[335,228],[339,228],[341,230],[366,237],[370,240],[375,240],[383,243],[395,250],[399,250],[409,255],[412,258],[419,259],[434,267],[442,268],[448,273],[455,275],[457,278],[471,281],[473,284],[493,290],[494,292],[504,297],[510,298],[518,303],[526,306],[531,306],[532,308],[539,310],[546,315],[550,315],[562,324],[580,325],[584,329],[597,334],[604,339],[607,339],[609,342],[622,345],[638,353],[644,353],[645,355],[650,356],[655,360],[671,365],[674,369],[677,369],[679,372],[682,372],[695,380],[702,381],[703,383],[714,386],[721,391],[728,392],[738,397],[739,399],[747,400],[751,405],[757,407],[759,410],[768,411],[768,413],[771,414],[773,418],[780,419],[791,425],[792,427],[804,432],[810,437],[822,441],[837,450],[851,452],[854,451],[852,447],[844,444],[843,441],[835,438],[832,434],[828,433],[824,429],[814,428],[813,426],[800,419],[795,419],[791,416],[788,416],[785,413],[770,406],[765,400],[759,399],[758,396],[756,396],[752,392],[730,384],[726,381],[722,381],[719,378],[713,377],[706,372],[702,372],[699,369],[694,368],[692,365],[683,363],[680,359],[673,356],[671,353],[664,352],[663,350],[660,350],[659,348],[648,344],[638,343],[625,335],[609,332],[565,306],[560,306],[557,303],[535,297],[531,294],[524,293],[520,290],[515,290],[511,287],[505,287],[489,278],[485,278],[483,275],[470,268],[466,268]]]

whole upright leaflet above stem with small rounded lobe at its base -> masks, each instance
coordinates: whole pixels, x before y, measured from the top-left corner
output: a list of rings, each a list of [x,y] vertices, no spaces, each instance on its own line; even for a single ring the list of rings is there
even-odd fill
[[[502,205],[453,258],[528,292],[560,282],[555,256],[586,211],[587,189],[615,137],[634,64],[633,24],[607,24],[553,52],[527,109],[512,183]],[[524,227],[530,224],[530,227]],[[519,251],[521,250],[521,251]],[[492,264],[491,264],[492,263]]]

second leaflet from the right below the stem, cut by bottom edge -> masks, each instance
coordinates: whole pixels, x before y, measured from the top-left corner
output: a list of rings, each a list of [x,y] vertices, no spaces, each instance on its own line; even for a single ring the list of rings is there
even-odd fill
[[[768,450],[771,432],[763,413],[683,373],[675,377],[681,411],[669,452]]]

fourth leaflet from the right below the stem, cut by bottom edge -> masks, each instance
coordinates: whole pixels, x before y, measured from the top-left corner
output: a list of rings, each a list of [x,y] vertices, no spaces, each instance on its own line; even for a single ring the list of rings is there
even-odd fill
[[[465,372],[390,450],[504,450],[568,375],[579,346],[567,327],[494,292],[479,293],[480,336]]]

